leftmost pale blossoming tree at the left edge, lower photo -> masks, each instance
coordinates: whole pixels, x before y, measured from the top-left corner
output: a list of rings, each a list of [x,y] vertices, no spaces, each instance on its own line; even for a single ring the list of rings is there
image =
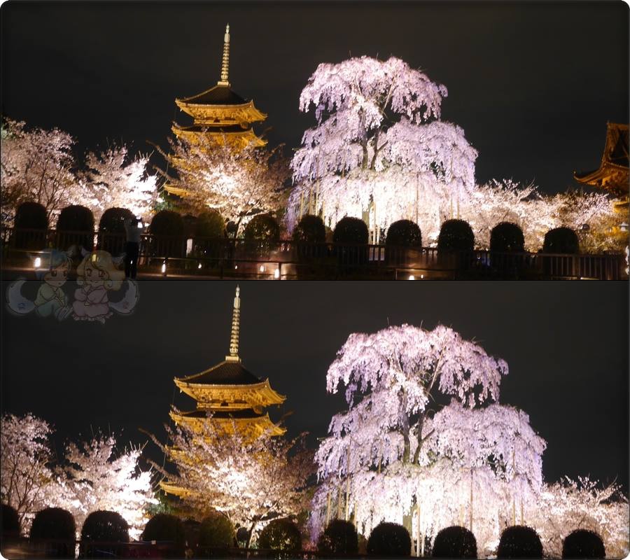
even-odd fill
[[[56,475],[48,422],[26,414],[4,414],[0,430],[0,496],[18,512],[22,530],[48,505]]]

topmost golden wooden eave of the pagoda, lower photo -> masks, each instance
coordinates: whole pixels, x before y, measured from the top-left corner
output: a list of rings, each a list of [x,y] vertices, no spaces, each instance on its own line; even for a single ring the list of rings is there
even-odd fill
[[[286,397],[276,393],[269,385],[269,379],[248,385],[210,385],[188,383],[174,379],[180,391],[193,397],[197,402],[209,405],[211,402],[246,402],[249,407],[281,405]]]

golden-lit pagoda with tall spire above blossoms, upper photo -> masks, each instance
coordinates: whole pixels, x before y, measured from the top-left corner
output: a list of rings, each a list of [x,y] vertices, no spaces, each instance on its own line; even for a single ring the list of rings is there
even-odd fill
[[[230,25],[227,25],[223,38],[221,79],[209,90],[175,99],[179,109],[193,117],[192,125],[173,123],[172,131],[176,137],[189,144],[204,146],[226,142],[237,150],[267,144],[252,129],[252,123],[265,120],[267,115],[256,109],[251,99],[244,99],[232,90],[228,80],[229,68]],[[173,195],[186,196],[186,190],[182,188],[165,185],[165,189]]]

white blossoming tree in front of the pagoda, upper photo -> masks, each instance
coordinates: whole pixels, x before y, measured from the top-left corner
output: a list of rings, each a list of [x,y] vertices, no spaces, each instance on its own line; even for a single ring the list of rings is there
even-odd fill
[[[257,214],[277,214],[283,208],[288,169],[281,146],[236,148],[225,138],[216,142],[202,134],[195,142],[169,139],[169,145],[169,154],[157,149],[176,173],[158,173],[186,192],[183,204],[193,212],[214,209],[240,227]]]

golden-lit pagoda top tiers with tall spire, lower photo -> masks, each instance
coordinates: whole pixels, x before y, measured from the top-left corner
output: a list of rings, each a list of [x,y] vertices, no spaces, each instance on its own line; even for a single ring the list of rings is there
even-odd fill
[[[239,321],[241,298],[239,288],[234,298],[230,354],[225,360],[207,370],[188,377],[176,377],[176,386],[197,402],[190,412],[172,411],[171,418],[178,426],[201,433],[208,422],[218,433],[240,433],[258,437],[262,433],[282,435],[286,430],[269,419],[265,407],[281,405],[285,397],[243,367],[239,358]]]

